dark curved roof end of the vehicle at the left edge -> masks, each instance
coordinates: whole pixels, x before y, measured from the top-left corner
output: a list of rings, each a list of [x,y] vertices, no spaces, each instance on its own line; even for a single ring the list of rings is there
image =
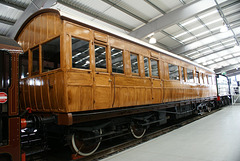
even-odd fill
[[[21,46],[15,40],[5,36],[0,36],[0,50],[19,54],[23,52]]]

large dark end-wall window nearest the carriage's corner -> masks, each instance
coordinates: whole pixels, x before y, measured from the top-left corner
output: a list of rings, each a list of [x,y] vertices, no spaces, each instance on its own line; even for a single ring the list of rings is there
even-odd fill
[[[60,68],[60,37],[42,45],[42,72]]]

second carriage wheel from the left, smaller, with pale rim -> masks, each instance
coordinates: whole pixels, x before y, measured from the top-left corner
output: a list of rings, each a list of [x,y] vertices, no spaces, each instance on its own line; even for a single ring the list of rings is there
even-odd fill
[[[139,124],[137,121],[133,121],[130,124],[130,130],[134,138],[140,139],[146,132],[146,128]]]

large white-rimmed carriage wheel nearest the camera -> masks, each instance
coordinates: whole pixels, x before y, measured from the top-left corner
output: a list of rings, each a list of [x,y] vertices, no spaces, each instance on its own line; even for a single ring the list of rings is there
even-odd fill
[[[78,131],[72,134],[71,137],[71,147],[77,154],[81,156],[89,156],[93,154],[99,147],[102,137],[95,139],[84,140],[86,138],[91,138],[99,136],[102,134],[102,130],[96,131]]]

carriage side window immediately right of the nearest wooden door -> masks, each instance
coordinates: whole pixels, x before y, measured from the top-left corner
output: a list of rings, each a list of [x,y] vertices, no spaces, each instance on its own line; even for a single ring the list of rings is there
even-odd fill
[[[123,51],[120,49],[112,48],[112,72],[124,73],[123,71]]]

